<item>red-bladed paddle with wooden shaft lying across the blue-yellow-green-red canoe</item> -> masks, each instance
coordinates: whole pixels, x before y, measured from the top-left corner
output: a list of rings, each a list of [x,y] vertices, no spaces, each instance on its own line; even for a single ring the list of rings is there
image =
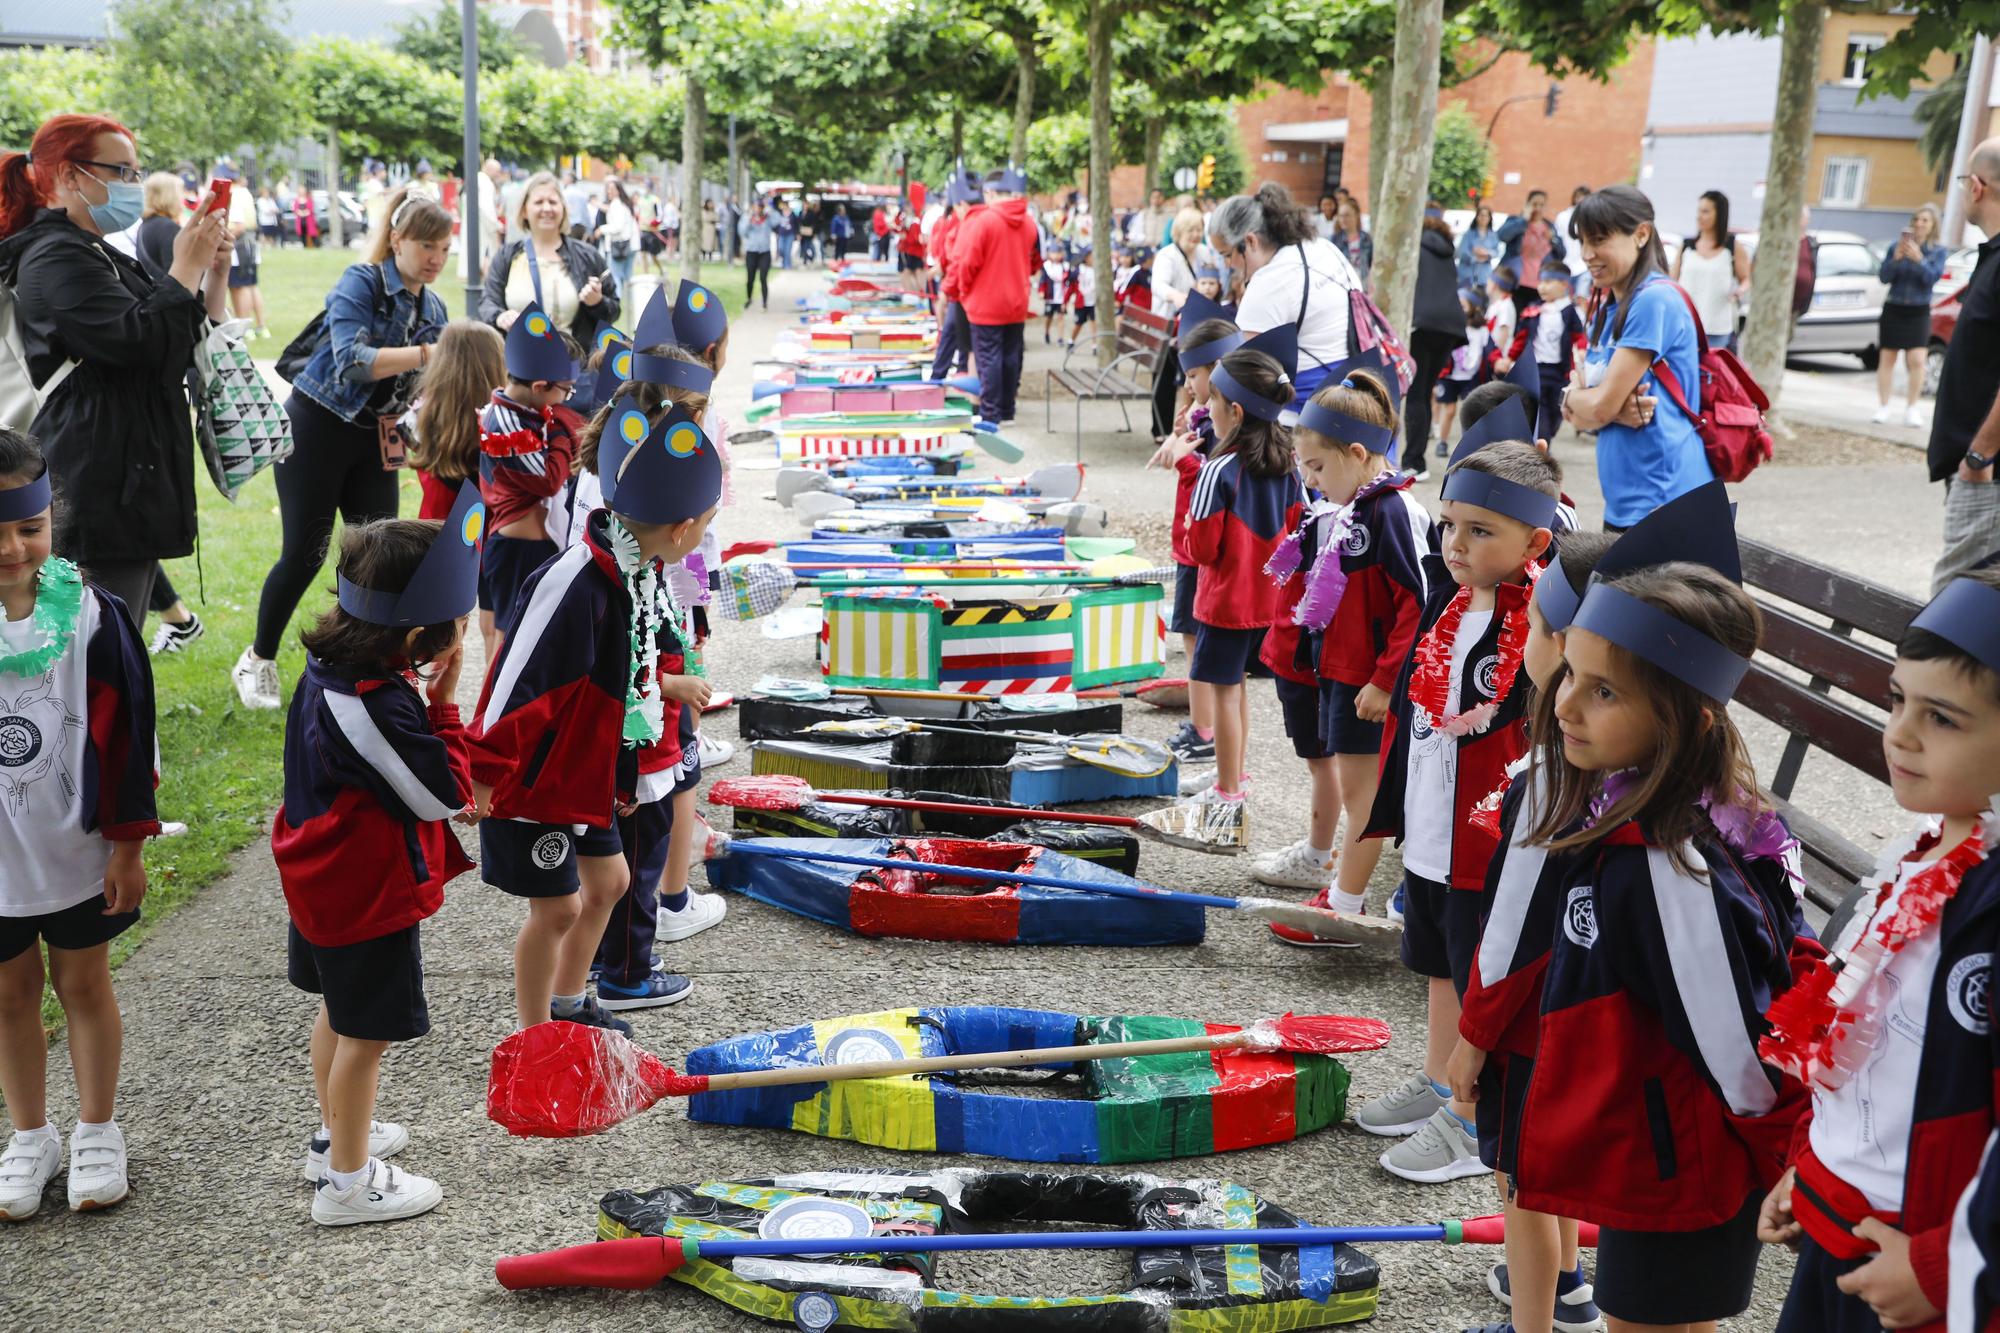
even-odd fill
[[[662,1097],[694,1097],[738,1087],[800,1087],[846,1079],[898,1079],[954,1069],[1074,1065],[1182,1051],[1260,1051],[1272,1055],[1348,1055],[1388,1045],[1388,1023],[1354,1015],[1284,1015],[1250,1027],[1164,1037],[1102,1041],[1036,1051],[968,1051],[902,1061],[786,1065],[722,1075],[674,1073],[628,1037],[582,1023],[536,1023],[494,1047],[486,1117],[510,1135],[576,1139],[626,1121]]]

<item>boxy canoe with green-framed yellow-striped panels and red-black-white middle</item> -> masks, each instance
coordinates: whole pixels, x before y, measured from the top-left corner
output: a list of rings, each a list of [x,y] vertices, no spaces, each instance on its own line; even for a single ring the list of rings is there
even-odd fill
[[[822,596],[830,685],[964,695],[1062,693],[1166,675],[1164,588],[996,598],[850,588]]]

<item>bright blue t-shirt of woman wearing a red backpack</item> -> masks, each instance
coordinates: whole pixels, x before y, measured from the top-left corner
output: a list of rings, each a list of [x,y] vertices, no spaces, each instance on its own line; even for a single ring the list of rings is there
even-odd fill
[[[1674,284],[1656,276],[1640,286],[1632,296],[1624,332],[1612,342],[1616,322],[1618,302],[1610,300],[1604,322],[1592,330],[1590,350],[1584,354],[1584,384],[1602,382],[1612,352],[1628,346],[1666,360],[1680,380],[1688,406],[1700,406],[1696,396],[1702,392],[1702,374],[1694,316],[1688,314],[1688,304]],[[1604,488],[1604,522],[1614,528],[1630,528],[1674,496],[1716,476],[1708,466],[1708,454],[1702,452],[1702,436],[1696,434],[1694,422],[1674,406],[1652,370],[1640,376],[1638,390],[1660,400],[1652,422],[1644,428],[1610,424],[1598,430],[1598,486]]]

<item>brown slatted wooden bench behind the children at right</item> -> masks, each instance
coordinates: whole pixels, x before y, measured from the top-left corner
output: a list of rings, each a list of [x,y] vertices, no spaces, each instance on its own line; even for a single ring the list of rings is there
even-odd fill
[[[1794,807],[1792,789],[1810,751],[1888,783],[1882,723],[1838,699],[1836,691],[1886,707],[1896,640],[1924,604],[1748,536],[1738,544],[1744,584],[1764,612],[1764,654],[1806,679],[1756,660],[1736,701],[1788,733],[1768,795],[1806,853],[1806,899],[1834,917],[1834,929],[1856,883],[1874,873],[1876,857],[1830,823]]]

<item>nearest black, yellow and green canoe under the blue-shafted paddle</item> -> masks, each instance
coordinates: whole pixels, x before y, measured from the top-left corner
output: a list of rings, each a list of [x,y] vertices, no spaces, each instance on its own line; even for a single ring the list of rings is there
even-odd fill
[[[950,1291],[940,1287],[936,1253],[694,1259],[672,1279],[794,1329],[898,1333],[1330,1329],[1374,1317],[1382,1281],[1376,1261],[1352,1245],[1174,1247],[1172,1235],[1180,1229],[1306,1223],[1230,1181],[1154,1175],[836,1169],[618,1189],[598,1203],[598,1237],[786,1235],[838,1221],[830,1213],[856,1211],[866,1215],[870,1233],[1088,1225],[1158,1231],[1162,1243],[1132,1251],[1130,1285],[1110,1295]],[[1062,1263],[1060,1255],[1046,1259]]]

